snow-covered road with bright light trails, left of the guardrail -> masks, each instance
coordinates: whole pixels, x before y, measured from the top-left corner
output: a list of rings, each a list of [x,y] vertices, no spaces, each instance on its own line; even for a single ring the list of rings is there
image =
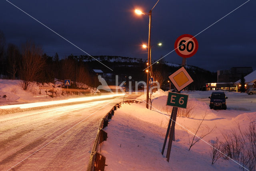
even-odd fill
[[[0,170],[86,169],[98,122],[122,100],[119,97],[0,115]]]

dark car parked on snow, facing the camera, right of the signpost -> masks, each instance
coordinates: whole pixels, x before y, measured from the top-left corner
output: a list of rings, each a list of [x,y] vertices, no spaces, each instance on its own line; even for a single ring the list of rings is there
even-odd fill
[[[226,97],[225,93],[223,91],[214,91],[211,94],[211,97],[209,97],[210,99],[210,109],[227,109],[227,105],[226,105],[226,99],[228,97]]]

